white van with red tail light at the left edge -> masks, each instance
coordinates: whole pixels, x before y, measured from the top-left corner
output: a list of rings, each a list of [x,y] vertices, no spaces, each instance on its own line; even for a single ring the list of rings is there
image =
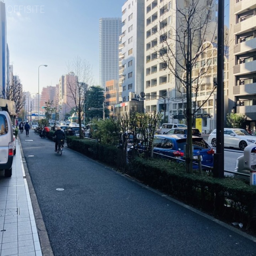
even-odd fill
[[[0,111],[0,170],[5,177],[12,176],[13,143],[11,118],[8,112]]]

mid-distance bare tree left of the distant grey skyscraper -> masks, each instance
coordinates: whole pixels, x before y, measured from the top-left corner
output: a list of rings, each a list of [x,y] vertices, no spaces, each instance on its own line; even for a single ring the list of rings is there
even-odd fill
[[[74,58],[68,64],[68,70],[74,73],[74,76],[67,76],[67,104],[70,108],[75,108],[78,115],[79,137],[82,134],[82,115],[84,113],[84,101],[86,100],[89,86],[92,84],[92,68],[86,60],[82,60],[79,56]]]

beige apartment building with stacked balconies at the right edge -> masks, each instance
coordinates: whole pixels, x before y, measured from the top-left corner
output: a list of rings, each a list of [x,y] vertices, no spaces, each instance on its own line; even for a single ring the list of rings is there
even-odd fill
[[[229,110],[256,125],[256,2],[230,1]]]

